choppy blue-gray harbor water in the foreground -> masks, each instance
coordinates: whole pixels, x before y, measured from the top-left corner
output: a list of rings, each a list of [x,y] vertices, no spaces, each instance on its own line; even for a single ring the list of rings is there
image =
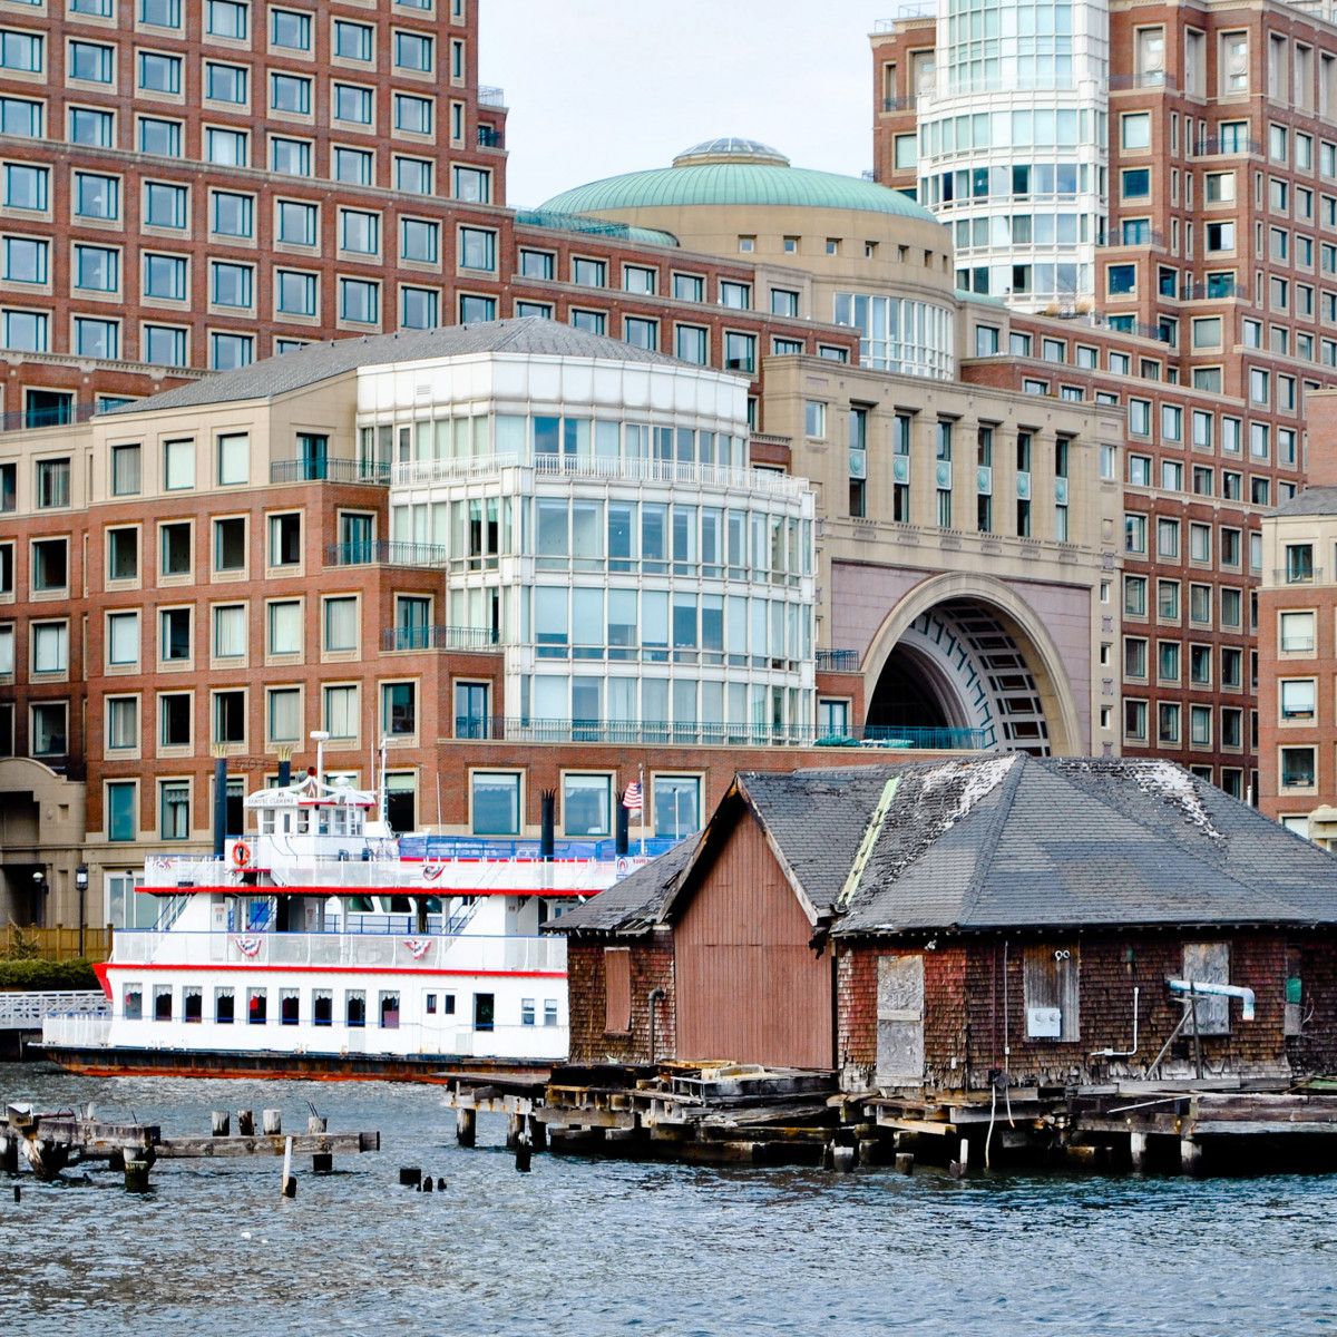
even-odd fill
[[[0,1326],[41,1334],[1337,1332],[1337,1179],[957,1183],[533,1158],[504,1123],[453,1144],[440,1091],[382,1083],[75,1078],[0,1066],[0,1096],[92,1100],[205,1134],[211,1108],[306,1100],[376,1155],[278,1195],[279,1161],[160,1162],[0,1183]],[[488,1146],[484,1146],[488,1143]],[[444,1194],[397,1186],[401,1165]]]

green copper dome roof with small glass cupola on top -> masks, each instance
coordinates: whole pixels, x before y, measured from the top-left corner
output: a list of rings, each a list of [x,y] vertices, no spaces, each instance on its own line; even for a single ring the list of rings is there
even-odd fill
[[[767,144],[727,138],[694,144],[674,159],[673,167],[607,176],[554,195],[539,207],[560,214],[603,214],[682,205],[850,209],[936,222],[900,191],[860,176],[790,167],[785,155]]]

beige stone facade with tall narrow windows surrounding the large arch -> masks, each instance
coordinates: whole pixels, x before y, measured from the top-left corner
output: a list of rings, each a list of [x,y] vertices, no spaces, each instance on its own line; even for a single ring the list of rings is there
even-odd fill
[[[1116,751],[1118,410],[821,358],[773,358],[765,380],[767,425],[789,437],[793,471],[818,493],[818,643],[857,652],[864,701],[874,699],[913,623],[969,600],[992,610],[1024,647],[1051,749]],[[939,459],[940,424],[951,433],[949,460]],[[857,431],[866,477],[856,500]],[[981,431],[991,460],[983,468]],[[1031,468],[1019,489],[1023,435]],[[979,528],[984,488],[991,532]],[[1028,501],[1025,537],[1016,533],[1019,491]],[[951,524],[941,524],[947,504]]]

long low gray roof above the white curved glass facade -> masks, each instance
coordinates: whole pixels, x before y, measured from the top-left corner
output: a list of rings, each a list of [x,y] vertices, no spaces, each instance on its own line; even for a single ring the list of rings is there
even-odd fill
[[[472,325],[448,325],[435,330],[400,330],[397,334],[366,334],[329,340],[262,362],[219,372],[190,385],[179,385],[162,394],[115,409],[115,413],[148,413],[158,409],[191,408],[203,404],[227,404],[235,400],[263,400],[305,389],[332,376],[360,366],[388,362],[414,362],[439,357],[468,357],[476,353],[519,353],[535,357],[590,357],[618,362],[658,362],[689,366],[667,353],[652,353],[604,334],[590,334],[571,325],[524,316],[508,321],[479,321]],[[701,370],[701,368],[695,368]]]

